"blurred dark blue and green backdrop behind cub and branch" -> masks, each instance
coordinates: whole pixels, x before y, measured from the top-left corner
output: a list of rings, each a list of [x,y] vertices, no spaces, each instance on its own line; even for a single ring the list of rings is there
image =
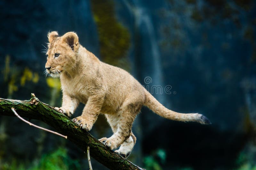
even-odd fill
[[[178,112],[212,124],[174,122],[141,110],[128,158],[152,169],[256,169],[254,0],[0,1],[0,97],[61,106],[59,79],[44,77],[49,31],[74,31],[101,61],[129,71]],[[146,81],[149,78],[150,81]],[[73,117],[81,114],[83,105]],[[46,124],[32,123],[52,129]],[[111,130],[100,116],[96,138]],[[107,169],[92,159],[93,169]],[[89,169],[73,143],[0,116],[0,169]]]

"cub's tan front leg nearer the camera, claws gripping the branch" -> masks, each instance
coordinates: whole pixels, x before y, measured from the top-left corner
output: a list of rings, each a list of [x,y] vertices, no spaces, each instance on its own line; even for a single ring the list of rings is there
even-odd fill
[[[100,96],[90,96],[84,107],[82,115],[72,119],[73,122],[86,131],[90,131],[100,114],[103,99],[104,97]]]

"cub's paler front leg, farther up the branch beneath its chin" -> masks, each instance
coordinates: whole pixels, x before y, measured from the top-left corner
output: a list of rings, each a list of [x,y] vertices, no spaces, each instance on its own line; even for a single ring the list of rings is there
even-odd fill
[[[61,113],[64,113],[68,117],[71,117],[74,114],[79,102],[76,98],[70,97],[67,93],[63,92],[62,96],[62,106],[60,108],[55,107],[56,110],[59,110]]]

